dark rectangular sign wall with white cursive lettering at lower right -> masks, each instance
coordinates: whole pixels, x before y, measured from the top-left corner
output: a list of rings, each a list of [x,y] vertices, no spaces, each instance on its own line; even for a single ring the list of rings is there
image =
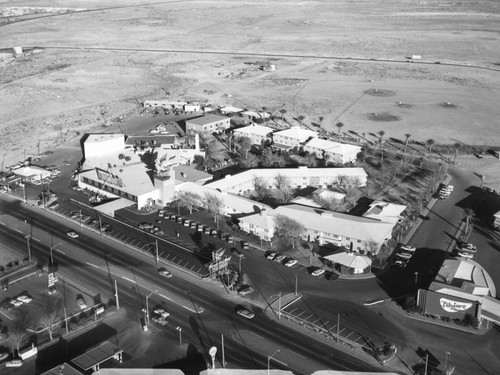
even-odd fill
[[[447,316],[452,319],[463,319],[466,314],[471,314],[473,317],[478,318],[480,311],[480,303],[477,301],[429,290],[419,290],[417,300],[418,305],[427,314]]]

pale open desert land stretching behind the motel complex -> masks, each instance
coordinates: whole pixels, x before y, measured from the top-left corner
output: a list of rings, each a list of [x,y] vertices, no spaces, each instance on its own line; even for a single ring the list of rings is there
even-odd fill
[[[341,121],[368,136],[500,146],[495,0],[32,5],[0,0],[2,168],[114,130],[103,125],[163,98],[285,109],[289,122],[302,115],[329,131]],[[422,60],[408,62],[414,54]],[[266,63],[277,69],[260,70]],[[497,159],[457,161],[500,190]]]

